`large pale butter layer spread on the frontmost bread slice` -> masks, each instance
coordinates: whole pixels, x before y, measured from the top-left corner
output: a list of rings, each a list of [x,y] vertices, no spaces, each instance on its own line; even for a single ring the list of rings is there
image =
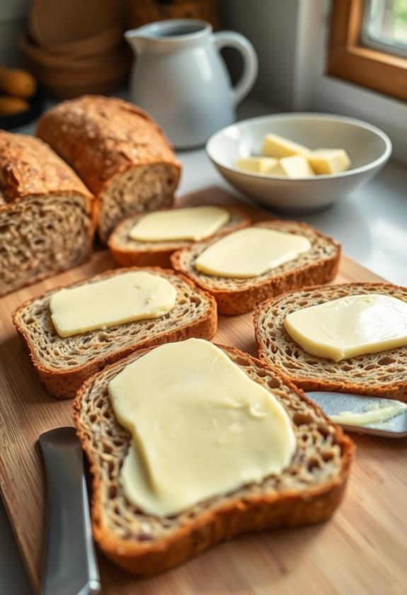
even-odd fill
[[[203,339],[151,349],[108,391],[117,420],[132,433],[120,483],[145,514],[173,516],[280,475],[296,449],[290,417],[273,393]]]

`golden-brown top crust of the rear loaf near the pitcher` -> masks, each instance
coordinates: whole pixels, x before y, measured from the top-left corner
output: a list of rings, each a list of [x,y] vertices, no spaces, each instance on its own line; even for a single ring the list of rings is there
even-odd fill
[[[84,95],[62,101],[38,121],[36,134],[48,142],[98,196],[131,166],[180,164],[163,130],[151,116],[116,97]]]

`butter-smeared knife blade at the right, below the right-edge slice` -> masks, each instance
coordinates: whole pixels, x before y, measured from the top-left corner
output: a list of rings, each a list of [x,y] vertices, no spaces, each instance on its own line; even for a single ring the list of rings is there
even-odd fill
[[[379,399],[378,397],[365,397],[363,395],[352,395],[348,392],[306,392],[307,397],[316,402],[323,412],[330,417],[336,416],[342,412],[351,412],[352,414],[366,413],[370,407],[374,407],[379,402],[390,402],[389,399]],[[401,404],[400,401],[391,400],[391,404]],[[401,404],[403,405],[403,404]],[[391,419],[379,421],[363,426],[343,424],[337,421],[343,429],[350,432],[368,433],[374,436],[384,436],[386,438],[404,438],[407,436],[407,409],[396,414]]]

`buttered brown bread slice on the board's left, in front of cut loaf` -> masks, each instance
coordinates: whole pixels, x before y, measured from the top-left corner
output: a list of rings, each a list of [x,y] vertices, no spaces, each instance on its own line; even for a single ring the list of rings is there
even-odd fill
[[[217,328],[213,297],[162,268],[121,268],[25,302],[13,323],[51,395],[73,397],[97,370],[139,348]]]

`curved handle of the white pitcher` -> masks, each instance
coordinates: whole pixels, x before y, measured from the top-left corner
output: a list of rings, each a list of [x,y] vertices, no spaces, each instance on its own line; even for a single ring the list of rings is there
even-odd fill
[[[217,47],[217,50],[222,50],[222,47],[234,47],[243,57],[243,73],[239,82],[232,89],[233,102],[237,106],[246,97],[248,92],[251,91],[256,81],[258,73],[256,50],[244,35],[235,33],[234,31],[218,31],[217,33],[213,33],[213,36],[214,45]]]

